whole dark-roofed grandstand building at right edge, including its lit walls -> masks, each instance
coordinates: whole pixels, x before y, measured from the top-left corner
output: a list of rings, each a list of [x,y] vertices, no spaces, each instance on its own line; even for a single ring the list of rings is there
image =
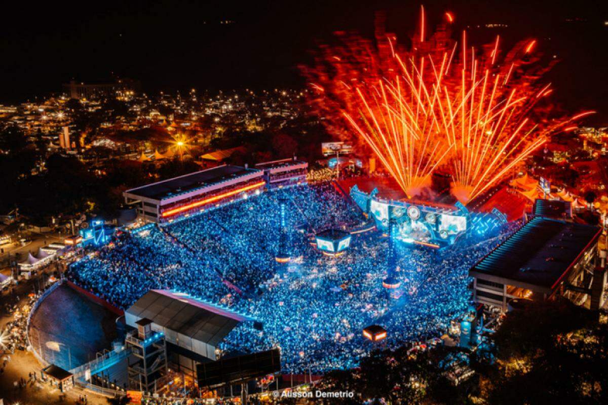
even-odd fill
[[[564,296],[598,307],[606,280],[596,266],[599,234],[598,226],[534,217],[469,270],[475,302],[506,311],[513,299]]]

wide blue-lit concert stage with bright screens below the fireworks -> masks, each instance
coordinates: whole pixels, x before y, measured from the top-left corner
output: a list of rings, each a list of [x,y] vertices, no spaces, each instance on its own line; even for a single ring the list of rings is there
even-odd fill
[[[454,206],[416,200],[389,200],[379,196],[377,188],[370,193],[354,185],[350,196],[359,208],[371,216],[376,227],[401,242],[430,248],[454,245],[472,236],[483,237],[497,233],[506,217],[494,209],[491,213],[471,213],[457,202]]]

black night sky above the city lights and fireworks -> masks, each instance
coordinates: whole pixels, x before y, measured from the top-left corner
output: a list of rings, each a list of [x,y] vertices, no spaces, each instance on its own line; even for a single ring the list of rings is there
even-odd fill
[[[567,108],[598,109],[608,125],[608,2],[425,1],[429,24],[447,10],[470,38],[537,38],[561,61],[548,80]],[[143,90],[302,86],[297,65],[336,30],[373,33],[374,15],[406,38],[420,1],[103,1],[13,2],[0,24],[0,103],[61,90],[61,83],[139,79]],[[574,21],[567,21],[567,19]],[[221,21],[233,21],[221,24]],[[476,29],[477,24],[507,29]]]

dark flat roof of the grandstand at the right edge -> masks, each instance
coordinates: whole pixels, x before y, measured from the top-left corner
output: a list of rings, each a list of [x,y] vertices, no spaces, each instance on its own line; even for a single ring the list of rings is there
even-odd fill
[[[549,292],[600,232],[597,226],[535,217],[480,260],[469,274]]]

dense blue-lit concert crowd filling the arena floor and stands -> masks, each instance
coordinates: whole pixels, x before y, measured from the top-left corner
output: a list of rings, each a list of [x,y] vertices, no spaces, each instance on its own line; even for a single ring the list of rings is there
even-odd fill
[[[278,214],[282,203],[286,234]],[[280,347],[285,372],[315,373],[356,366],[374,347],[361,333],[370,324],[387,328],[383,344],[389,347],[445,330],[468,305],[469,267],[512,231],[457,250],[399,246],[401,296],[390,298],[382,287],[387,239],[359,235],[336,258],[309,243],[315,231],[349,229],[364,220],[331,183],[278,189],[163,228],[123,234],[72,265],[69,277],[121,308],[151,288],[229,305],[260,321],[263,330],[243,322],[221,349]],[[274,260],[282,237],[293,258],[287,267]]]

